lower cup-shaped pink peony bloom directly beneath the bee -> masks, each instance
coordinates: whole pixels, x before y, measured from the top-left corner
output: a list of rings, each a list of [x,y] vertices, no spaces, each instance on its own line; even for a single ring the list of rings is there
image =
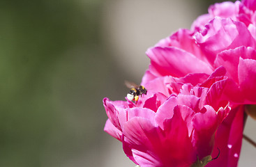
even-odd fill
[[[193,80],[190,75],[158,77],[146,83],[148,94],[137,104],[105,98],[105,132],[121,141],[126,155],[142,167],[190,166],[197,157],[211,155],[216,129],[229,112],[220,98],[227,82],[221,74],[223,68],[211,76],[195,74],[206,87],[185,84]],[[196,77],[193,84],[200,81]]]

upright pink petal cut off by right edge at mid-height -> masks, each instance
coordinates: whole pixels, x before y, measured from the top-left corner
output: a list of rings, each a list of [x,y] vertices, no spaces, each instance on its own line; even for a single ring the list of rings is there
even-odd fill
[[[238,74],[241,91],[250,104],[256,104],[256,61],[240,58]]]

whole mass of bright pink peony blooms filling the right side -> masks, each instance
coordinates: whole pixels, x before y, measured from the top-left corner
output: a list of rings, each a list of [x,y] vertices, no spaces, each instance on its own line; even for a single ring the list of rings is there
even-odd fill
[[[146,51],[147,95],[136,104],[103,100],[105,131],[135,164],[191,166],[219,149],[207,166],[237,166],[243,105],[256,104],[255,10],[253,0],[210,6],[190,30]]]

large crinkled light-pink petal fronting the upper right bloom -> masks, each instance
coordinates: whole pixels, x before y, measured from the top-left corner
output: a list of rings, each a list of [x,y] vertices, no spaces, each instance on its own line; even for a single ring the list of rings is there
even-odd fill
[[[202,33],[195,34],[195,38],[210,63],[214,63],[217,54],[225,49],[255,47],[255,40],[246,25],[232,19],[216,17],[206,24]]]

